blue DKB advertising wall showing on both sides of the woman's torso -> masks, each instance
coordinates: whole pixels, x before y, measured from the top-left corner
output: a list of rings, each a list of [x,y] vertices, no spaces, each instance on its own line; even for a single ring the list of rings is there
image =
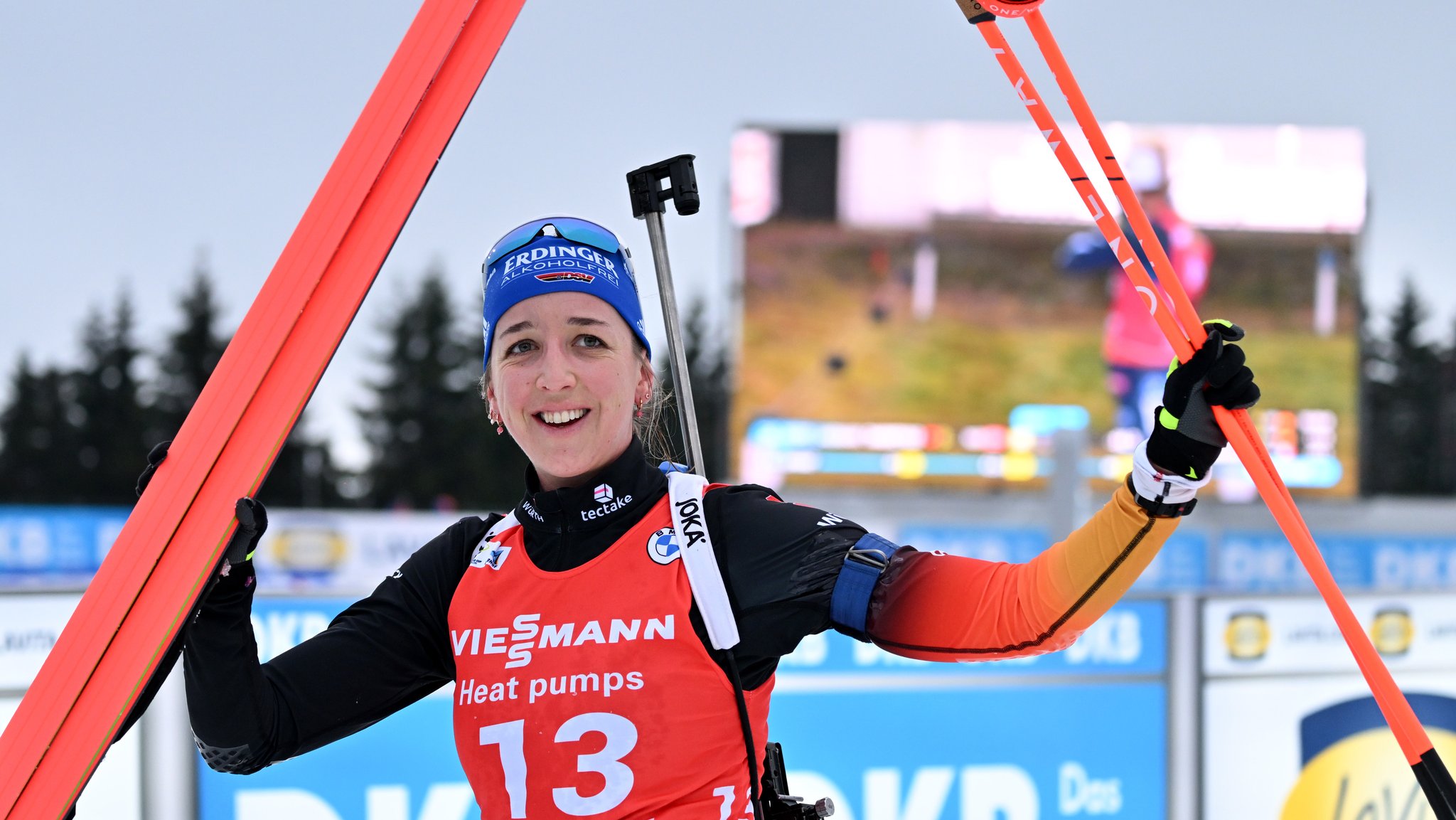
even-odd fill
[[[269,658],[347,599],[258,599]],[[1165,817],[1166,610],[1114,607],[1066,653],[911,661],[842,635],[785,658],[770,733],[795,794],[839,820]],[[199,820],[464,820],[448,689],[360,734],[256,775],[199,766]]]

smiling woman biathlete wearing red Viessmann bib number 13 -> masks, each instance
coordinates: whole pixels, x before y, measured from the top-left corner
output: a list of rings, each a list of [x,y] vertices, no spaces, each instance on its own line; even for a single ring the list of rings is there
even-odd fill
[[[668,476],[635,428],[655,383],[628,251],[585,220],[534,220],[491,249],[483,275],[482,387],[530,459],[520,504],[460,520],[266,664],[252,565],[232,567],[185,632],[192,728],[214,769],[256,772],[453,682],[456,746],[486,819],[737,817],[775,666],[799,639],[837,629],[938,661],[1067,647],[1207,482],[1224,444],[1210,402],[1258,398],[1242,351],[1222,344],[1242,332],[1216,326],[1171,371],[1127,482],[1026,564],[895,546],[756,485],[709,488],[700,504],[674,489],[674,527]],[[700,536],[741,635],[725,653],[681,558]]]

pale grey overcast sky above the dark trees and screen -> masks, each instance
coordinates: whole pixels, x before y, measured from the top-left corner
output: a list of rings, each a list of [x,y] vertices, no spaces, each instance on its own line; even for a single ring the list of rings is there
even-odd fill
[[[1388,307],[1414,274],[1444,335],[1456,315],[1456,3],[1405,3],[1399,15],[1328,0],[1248,7],[1050,0],[1045,12],[1104,121],[1361,128],[1366,294]],[[143,341],[159,342],[199,253],[234,326],[416,9],[0,6],[0,392],[22,350],[73,363],[87,310],[122,288]],[[1029,38],[1013,33],[1031,63]],[[632,167],[699,157],[703,213],[668,223],[678,287],[692,294],[727,277],[735,127],[1024,117],[951,0],[530,0],[306,418],[357,465],[349,408],[364,401],[358,382],[379,344],[360,331],[431,264],[470,304],[482,255],[524,218],[597,218],[645,259],[623,182]],[[660,325],[651,306],[648,316]]]

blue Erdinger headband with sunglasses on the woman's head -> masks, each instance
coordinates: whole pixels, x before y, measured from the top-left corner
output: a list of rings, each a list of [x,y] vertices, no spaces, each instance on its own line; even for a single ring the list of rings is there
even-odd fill
[[[501,316],[518,301],[559,291],[588,293],[614,307],[652,355],[632,253],[610,230],[577,217],[531,220],[496,242],[480,269],[486,367]]]

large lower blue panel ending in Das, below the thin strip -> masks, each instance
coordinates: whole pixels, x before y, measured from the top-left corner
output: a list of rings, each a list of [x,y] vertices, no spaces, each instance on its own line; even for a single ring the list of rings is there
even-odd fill
[[[775,698],[789,788],[834,820],[1166,817],[1159,683]]]

